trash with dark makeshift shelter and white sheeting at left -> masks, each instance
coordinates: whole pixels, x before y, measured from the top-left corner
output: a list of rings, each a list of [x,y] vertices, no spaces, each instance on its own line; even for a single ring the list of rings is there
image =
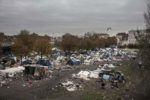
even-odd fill
[[[5,86],[11,83],[10,80],[40,80],[50,76],[51,73],[51,63],[47,59],[38,60],[31,58],[23,58],[20,62],[15,63],[13,66],[5,66],[2,60],[0,62],[0,84]],[[3,67],[3,68],[2,68]]]

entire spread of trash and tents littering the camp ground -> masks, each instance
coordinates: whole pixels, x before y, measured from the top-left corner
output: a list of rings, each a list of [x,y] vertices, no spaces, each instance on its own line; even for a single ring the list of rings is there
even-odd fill
[[[106,71],[115,69],[117,67],[111,62],[122,61],[124,59],[136,57],[135,53],[132,54],[118,48],[100,48],[96,51],[87,50],[86,53],[83,54],[74,52],[68,55],[65,55],[66,52],[62,52],[60,50],[57,50],[56,48],[53,48],[53,52],[54,53],[50,56],[49,59],[46,56],[43,56],[43,58],[41,59],[41,56],[39,55],[33,57],[23,57],[20,62],[16,62],[15,66],[8,66],[8,62],[4,64],[5,60],[2,60],[0,62],[0,76],[13,78],[16,77],[16,74],[21,73],[24,75],[20,77],[25,77],[27,79],[42,79],[45,78],[44,75],[50,77],[50,74],[55,72],[54,70],[63,72],[73,71],[74,69],[79,68],[78,73],[72,74],[73,78],[83,79],[86,81],[89,81],[91,79],[108,81],[111,80],[111,78],[116,78],[116,76],[118,75],[118,79],[116,79],[118,81],[121,81],[123,80],[122,73],[105,73]],[[17,58],[15,58],[15,61],[16,59]],[[105,63],[103,65],[99,65],[96,70],[80,69],[80,65],[89,66],[94,65],[95,62],[98,62],[98,64],[100,64],[101,62]],[[0,82],[2,86],[7,83],[6,79],[2,79],[1,77]],[[64,82],[62,83],[62,85],[68,91],[75,91],[77,90],[77,87],[80,87],[80,85],[75,84],[73,81]],[[23,86],[25,87],[26,84],[24,84]]]

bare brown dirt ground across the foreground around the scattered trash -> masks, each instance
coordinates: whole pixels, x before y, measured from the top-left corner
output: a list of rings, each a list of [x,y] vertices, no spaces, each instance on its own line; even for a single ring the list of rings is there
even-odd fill
[[[98,65],[99,64],[89,66],[80,65],[72,66],[74,68],[70,70],[54,70],[51,78],[45,78],[40,81],[32,81],[30,83],[22,78],[14,79],[8,86],[0,87],[0,100],[82,100],[84,95],[91,93],[106,94],[108,96],[113,93],[114,97],[116,97],[115,93],[123,95],[119,88],[108,88],[103,90],[99,79],[86,81],[82,79],[73,79],[71,77],[73,73],[78,73],[80,70],[95,70]],[[81,83],[83,89],[74,92],[67,91],[65,88],[60,86],[60,83],[66,79]],[[109,84],[107,85],[109,87]],[[119,87],[123,88],[124,84]],[[111,100],[111,98],[107,99]]]

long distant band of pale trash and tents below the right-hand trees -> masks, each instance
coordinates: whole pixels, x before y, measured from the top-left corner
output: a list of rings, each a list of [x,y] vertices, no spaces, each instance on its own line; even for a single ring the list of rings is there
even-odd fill
[[[100,48],[97,50],[85,50],[84,53],[81,51],[76,52],[63,52],[55,51],[52,54],[52,59],[55,66],[64,65],[64,62],[68,65],[92,65],[96,62],[103,61],[122,61],[124,59],[132,58],[135,53],[121,50],[118,48]]]

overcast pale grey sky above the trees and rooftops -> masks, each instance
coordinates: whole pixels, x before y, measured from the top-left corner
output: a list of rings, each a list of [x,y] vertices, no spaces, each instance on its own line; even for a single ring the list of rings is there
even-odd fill
[[[116,34],[144,28],[144,0],[0,0],[0,32]]]

